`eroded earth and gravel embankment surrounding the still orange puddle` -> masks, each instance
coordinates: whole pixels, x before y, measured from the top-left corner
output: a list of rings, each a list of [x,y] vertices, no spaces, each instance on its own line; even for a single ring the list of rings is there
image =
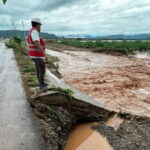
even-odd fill
[[[115,150],[150,149],[150,119],[147,117],[116,114],[80,100],[67,100],[61,93],[37,96],[33,104],[35,114],[42,119],[44,136],[51,148],[63,149],[69,133],[76,125],[96,121],[99,123],[92,129],[107,137]],[[112,121],[112,125],[115,125],[111,127],[108,122],[116,117],[123,122],[119,125]]]

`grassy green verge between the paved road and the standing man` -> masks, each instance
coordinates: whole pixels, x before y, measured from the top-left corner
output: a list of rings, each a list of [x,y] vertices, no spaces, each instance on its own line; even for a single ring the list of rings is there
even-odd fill
[[[28,51],[25,46],[25,42],[18,37],[13,37],[6,43],[6,46],[13,48],[15,52],[15,57],[23,74],[23,82],[27,86],[36,87],[38,86],[38,80],[36,77],[35,65],[32,60],[28,57]]]

